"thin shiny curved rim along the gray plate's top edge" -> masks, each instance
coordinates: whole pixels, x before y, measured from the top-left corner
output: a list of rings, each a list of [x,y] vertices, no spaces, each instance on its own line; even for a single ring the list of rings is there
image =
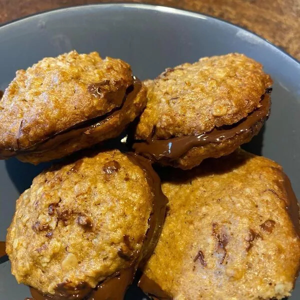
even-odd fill
[[[34,16],[40,16],[43,14],[52,14],[55,12],[63,12],[63,11],[67,11],[67,10],[79,10],[85,7],[92,7],[92,6],[96,6],[96,7],[101,7],[101,6],[106,6],[106,7],[120,7],[120,8],[124,8],[124,7],[128,7],[128,8],[139,8],[139,9],[146,9],[146,10],[155,10],[155,11],[163,11],[163,12],[168,12],[168,13],[173,13],[173,14],[185,14],[187,16],[191,16],[191,17],[200,17],[203,19],[210,19],[213,21],[217,21],[220,23],[225,23],[227,26],[232,26],[235,28],[238,28],[239,30],[243,30],[244,32],[247,32],[248,34],[252,35],[254,38],[259,38],[261,41],[263,41],[264,43],[266,43],[268,46],[273,47],[275,50],[278,50],[279,52],[281,52],[282,54],[284,54],[285,56],[287,56],[287,58],[291,59],[293,62],[296,63],[296,65],[298,67],[300,67],[300,60],[298,60],[297,58],[293,57],[291,54],[289,54],[288,52],[286,52],[284,49],[282,49],[280,46],[275,45],[274,43],[272,43],[271,41],[269,41],[268,39],[260,36],[259,34],[241,27],[240,25],[231,23],[230,21],[227,20],[223,20],[220,19],[216,16],[212,16],[209,14],[205,14],[205,13],[201,13],[201,12],[197,12],[197,11],[193,11],[193,10],[189,10],[189,9],[182,9],[182,8],[175,8],[175,7],[171,7],[171,6],[167,6],[167,5],[156,5],[156,4],[151,4],[151,3],[135,3],[135,2],[117,2],[117,3],[111,3],[111,2],[101,2],[101,3],[90,3],[90,4],[81,4],[81,5],[71,5],[71,6],[65,6],[65,7],[56,7],[53,9],[47,9],[47,10],[42,10],[42,11],[38,11],[35,13],[31,13],[4,23],[0,24],[0,32],[4,27],[8,27],[9,25],[12,24],[16,24],[20,21],[24,21],[27,19],[31,19]]]

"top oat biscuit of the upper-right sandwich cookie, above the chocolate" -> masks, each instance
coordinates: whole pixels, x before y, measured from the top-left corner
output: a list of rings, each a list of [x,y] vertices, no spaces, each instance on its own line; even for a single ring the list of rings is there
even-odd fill
[[[231,125],[259,106],[272,81],[255,60],[238,53],[168,68],[148,87],[136,138],[199,135]]]

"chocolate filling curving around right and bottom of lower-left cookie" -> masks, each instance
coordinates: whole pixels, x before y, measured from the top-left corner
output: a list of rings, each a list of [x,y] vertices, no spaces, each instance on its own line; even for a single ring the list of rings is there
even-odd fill
[[[91,288],[85,282],[81,282],[76,287],[71,288],[62,283],[56,287],[54,295],[47,295],[30,287],[31,300],[123,300],[137,267],[142,267],[154,250],[162,229],[167,203],[167,198],[161,190],[160,179],[152,169],[151,163],[144,157],[134,153],[127,153],[126,155],[134,164],[143,169],[153,194],[152,211],[148,218],[148,229],[144,236],[139,260],[133,261],[129,268],[120,270],[112,277],[100,282],[95,288]]]

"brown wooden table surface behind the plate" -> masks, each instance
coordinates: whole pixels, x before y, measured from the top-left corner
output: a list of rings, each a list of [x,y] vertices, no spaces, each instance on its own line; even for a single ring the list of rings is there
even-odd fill
[[[0,0],[0,22],[38,11],[101,0]],[[166,5],[210,14],[263,36],[300,60],[300,0],[111,0]]]

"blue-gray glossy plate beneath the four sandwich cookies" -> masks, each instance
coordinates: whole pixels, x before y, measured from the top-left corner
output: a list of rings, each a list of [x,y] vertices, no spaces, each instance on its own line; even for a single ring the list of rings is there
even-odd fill
[[[0,27],[0,89],[17,69],[44,56],[76,49],[129,62],[141,79],[165,67],[201,56],[242,52],[260,61],[273,80],[272,112],[263,134],[246,145],[283,165],[300,197],[300,64],[257,35],[224,21],[178,9],[143,4],[78,6],[33,15]],[[0,161],[0,240],[14,211],[15,199],[46,164],[32,166],[12,158]],[[0,300],[23,300],[9,262],[0,264]],[[137,289],[126,299],[141,300]],[[300,298],[297,281],[290,300]]]

